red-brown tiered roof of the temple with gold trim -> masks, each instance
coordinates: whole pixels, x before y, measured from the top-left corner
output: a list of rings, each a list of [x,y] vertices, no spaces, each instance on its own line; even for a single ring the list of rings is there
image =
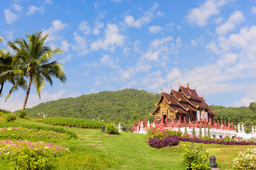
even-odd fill
[[[168,103],[169,108],[171,108],[171,111],[175,111],[176,113],[204,110],[211,115],[215,115],[203,97],[198,96],[196,89],[190,89],[188,85],[187,87],[180,85],[178,91],[171,89],[170,94],[166,94],[164,91],[162,91],[159,102],[157,103],[158,107],[153,113],[151,113],[152,115],[158,111],[160,108],[159,103],[161,103],[164,99],[166,103]]]

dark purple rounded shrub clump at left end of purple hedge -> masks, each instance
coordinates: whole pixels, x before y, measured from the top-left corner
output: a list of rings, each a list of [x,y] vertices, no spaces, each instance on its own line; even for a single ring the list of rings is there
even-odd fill
[[[151,147],[155,147],[157,149],[161,147],[172,147],[178,145],[179,141],[174,138],[174,135],[169,135],[168,137],[165,137],[163,139],[159,138],[151,138],[149,139],[149,145]]]

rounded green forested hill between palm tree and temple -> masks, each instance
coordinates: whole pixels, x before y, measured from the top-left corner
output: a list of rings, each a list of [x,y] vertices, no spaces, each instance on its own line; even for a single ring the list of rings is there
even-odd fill
[[[57,101],[40,103],[26,111],[34,118],[38,118],[38,113],[43,112],[48,116],[100,118],[105,121],[124,122],[149,118],[149,112],[154,111],[156,108],[154,103],[159,101],[159,97],[160,94],[137,89],[102,91],[77,98],[62,98]]]

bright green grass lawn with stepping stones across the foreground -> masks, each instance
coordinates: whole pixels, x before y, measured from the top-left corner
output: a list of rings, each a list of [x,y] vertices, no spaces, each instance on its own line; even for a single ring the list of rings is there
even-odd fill
[[[50,126],[20,118],[17,121]],[[160,152],[159,149],[147,144],[146,135],[130,132],[104,135],[100,129],[63,128],[75,132],[78,139],[55,142],[68,147],[71,153],[50,159],[50,169],[184,169],[182,152]],[[228,149],[223,145],[205,145],[205,147],[209,156],[215,157],[220,150]],[[228,167],[220,161],[218,166],[222,169]],[[11,167],[9,162],[0,160],[0,169],[9,167]]]

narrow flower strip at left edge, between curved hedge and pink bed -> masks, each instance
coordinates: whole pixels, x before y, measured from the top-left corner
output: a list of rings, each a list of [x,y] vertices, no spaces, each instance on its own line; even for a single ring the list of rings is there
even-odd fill
[[[66,133],[54,132],[52,130],[36,130],[21,127],[0,128],[0,137],[15,140],[69,140],[71,138],[71,136]]]

